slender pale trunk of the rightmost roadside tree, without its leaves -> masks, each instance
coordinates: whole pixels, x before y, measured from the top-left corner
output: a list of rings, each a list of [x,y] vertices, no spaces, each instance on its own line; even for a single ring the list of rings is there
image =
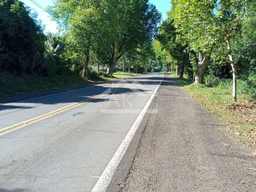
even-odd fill
[[[233,71],[233,86],[232,86],[232,99],[234,101],[236,101],[236,75],[237,75],[237,71],[236,71],[236,66],[234,64],[234,60],[233,60],[233,56],[232,56],[232,50],[231,50],[231,46],[230,46],[230,42],[229,39],[227,37],[227,33],[224,33],[224,40],[227,44],[227,49],[228,49],[228,58],[230,60],[230,65],[232,67],[232,71]]]

